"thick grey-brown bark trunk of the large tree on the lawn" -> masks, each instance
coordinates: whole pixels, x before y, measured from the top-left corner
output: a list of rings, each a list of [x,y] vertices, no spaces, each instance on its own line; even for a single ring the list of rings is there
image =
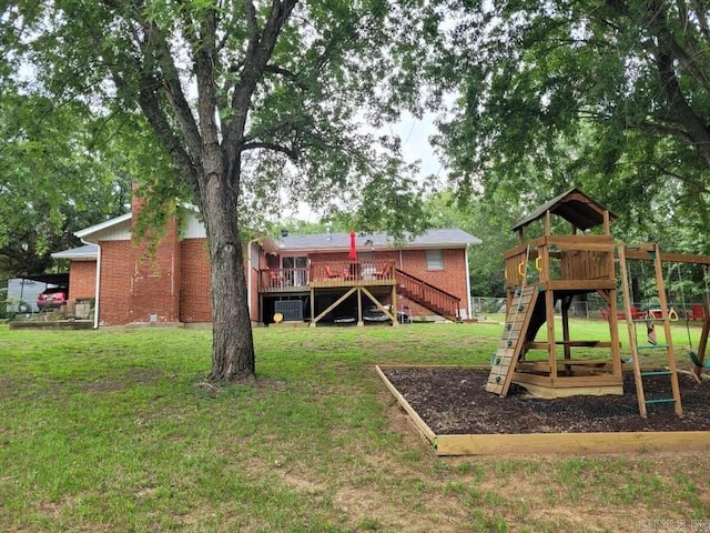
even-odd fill
[[[205,180],[203,215],[212,280],[212,372],[210,381],[254,376],[254,343],[236,219],[236,194],[222,177]]]

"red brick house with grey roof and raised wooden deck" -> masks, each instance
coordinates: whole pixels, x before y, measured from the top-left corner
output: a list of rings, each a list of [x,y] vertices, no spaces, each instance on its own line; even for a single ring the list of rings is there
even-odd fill
[[[131,241],[139,210],[134,202],[131,213],[77,232],[84,247],[52,254],[70,261],[70,300],[94,299],[94,326],[210,322],[209,253],[196,209],[180,208],[148,258],[145,244]],[[393,323],[397,311],[467,319],[467,250],[479,243],[458,229],[399,244],[384,233],[254,239],[244,250],[252,321],[362,324],[372,311],[373,320]]]

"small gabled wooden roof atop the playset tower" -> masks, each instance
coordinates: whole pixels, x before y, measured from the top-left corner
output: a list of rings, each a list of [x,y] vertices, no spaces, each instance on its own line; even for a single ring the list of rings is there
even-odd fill
[[[589,228],[604,224],[604,212],[607,211],[607,209],[579,189],[574,188],[554,198],[544,205],[540,205],[525,219],[516,223],[513,227],[513,231],[523,229],[531,222],[541,219],[547,211],[571,222],[580,230],[588,230]],[[615,220],[616,218],[617,217],[609,211],[609,219]]]

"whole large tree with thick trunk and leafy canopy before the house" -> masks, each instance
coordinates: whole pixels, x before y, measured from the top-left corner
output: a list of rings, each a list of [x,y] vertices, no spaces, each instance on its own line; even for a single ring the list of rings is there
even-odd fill
[[[0,20],[40,90],[140,112],[164,147],[207,233],[213,380],[255,370],[239,237],[254,213],[286,191],[389,213],[381,229],[424,220],[398,141],[358,125],[414,101],[405,67],[437,21],[423,1],[17,0]]]

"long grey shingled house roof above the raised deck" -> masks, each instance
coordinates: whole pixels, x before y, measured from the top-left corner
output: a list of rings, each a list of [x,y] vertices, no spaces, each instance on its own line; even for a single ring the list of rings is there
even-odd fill
[[[413,248],[465,248],[480,244],[481,240],[457,228],[429,230],[422,235],[405,237],[403,243],[396,243],[387,233],[358,233],[356,245],[362,249],[413,249]],[[349,250],[349,233],[293,234],[275,238],[278,251],[307,250]]]

